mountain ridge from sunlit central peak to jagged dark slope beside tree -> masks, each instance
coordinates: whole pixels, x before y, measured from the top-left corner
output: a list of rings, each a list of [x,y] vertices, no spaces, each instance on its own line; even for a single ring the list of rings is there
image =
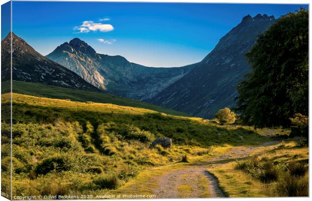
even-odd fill
[[[274,22],[274,16],[247,15],[200,62],[182,67],[147,67],[120,55],[99,54],[79,38],[46,57],[106,92],[211,118],[235,106],[236,85],[250,71],[244,54]]]

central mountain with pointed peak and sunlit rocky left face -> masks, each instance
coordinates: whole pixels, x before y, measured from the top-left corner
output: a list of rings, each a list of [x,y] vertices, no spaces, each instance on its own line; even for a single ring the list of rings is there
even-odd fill
[[[131,63],[122,56],[99,54],[78,38],[61,44],[46,57],[79,74],[99,89],[137,100],[152,98],[197,65],[146,67]]]

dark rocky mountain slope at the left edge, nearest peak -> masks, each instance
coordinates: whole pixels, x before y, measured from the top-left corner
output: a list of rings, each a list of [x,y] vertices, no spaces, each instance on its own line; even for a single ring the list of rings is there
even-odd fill
[[[66,88],[99,91],[76,73],[42,56],[22,38],[12,33],[13,80],[39,82]],[[2,81],[11,79],[11,33],[1,41]]]

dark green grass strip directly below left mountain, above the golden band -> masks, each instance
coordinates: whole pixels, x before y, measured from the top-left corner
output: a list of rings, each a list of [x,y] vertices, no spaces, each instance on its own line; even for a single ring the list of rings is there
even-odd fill
[[[4,92],[10,92],[9,81],[2,82]],[[3,93],[4,93],[3,92]],[[115,104],[119,106],[130,106],[135,108],[144,108],[154,110],[161,113],[176,116],[189,116],[185,113],[162,108],[140,102],[138,100],[128,99],[104,92],[82,91],[58,86],[46,85],[42,83],[13,81],[13,92],[26,95],[34,95],[39,97],[50,97],[59,99],[70,99],[78,102],[96,102],[105,104]]]

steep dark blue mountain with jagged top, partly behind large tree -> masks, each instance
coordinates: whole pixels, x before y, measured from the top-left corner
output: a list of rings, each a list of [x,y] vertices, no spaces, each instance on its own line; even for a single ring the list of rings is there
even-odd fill
[[[204,118],[235,107],[236,86],[251,71],[244,54],[274,22],[274,16],[244,17],[195,68],[147,102]]]

